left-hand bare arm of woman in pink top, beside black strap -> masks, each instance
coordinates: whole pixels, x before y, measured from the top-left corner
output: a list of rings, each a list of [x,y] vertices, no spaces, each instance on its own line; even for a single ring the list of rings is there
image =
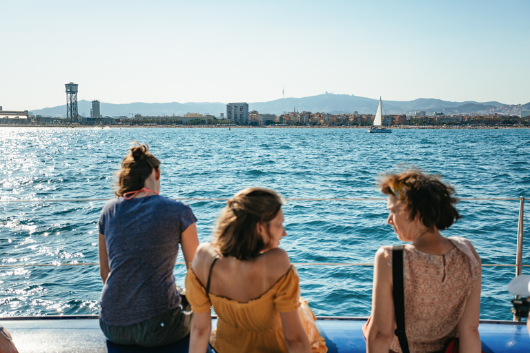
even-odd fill
[[[394,337],[394,299],[392,268],[386,264],[384,250],[375,253],[373,268],[372,314],[366,325],[366,352],[388,353]]]

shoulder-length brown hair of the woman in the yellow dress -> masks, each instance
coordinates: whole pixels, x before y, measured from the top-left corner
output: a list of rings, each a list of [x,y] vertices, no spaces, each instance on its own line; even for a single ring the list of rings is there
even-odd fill
[[[217,220],[212,245],[223,256],[238,260],[255,259],[265,248],[257,223],[266,225],[282,208],[282,198],[273,190],[248,188],[237,192]]]

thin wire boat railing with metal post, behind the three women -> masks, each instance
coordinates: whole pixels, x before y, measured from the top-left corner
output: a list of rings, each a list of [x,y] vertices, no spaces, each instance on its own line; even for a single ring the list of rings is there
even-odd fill
[[[209,198],[193,198],[181,197],[173,198],[175,201],[228,201],[228,199],[209,199]],[[311,198],[285,198],[286,201],[386,201],[385,198],[328,198],[328,199],[311,199]],[[519,198],[464,198],[460,201],[520,201],[519,202],[519,216],[517,229],[517,253],[516,263],[486,263],[482,267],[515,267],[516,276],[520,276],[523,267],[530,267],[530,264],[524,265],[522,263],[522,240],[523,240],[523,216],[524,216],[524,196]],[[0,203],[34,203],[34,202],[95,202],[108,201],[108,199],[0,199]],[[176,263],[175,265],[186,265],[184,262]],[[293,263],[299,266],[373,266],[373,263]],[[21,268],[21,267],[59,267],[59,266],[99,266],[99,263],[25,263],[25,264],[0,264],[0,268]],[[518,296],[516,296],[518,299]],[[513,315],[513,321],[521,321],[521,318]]]

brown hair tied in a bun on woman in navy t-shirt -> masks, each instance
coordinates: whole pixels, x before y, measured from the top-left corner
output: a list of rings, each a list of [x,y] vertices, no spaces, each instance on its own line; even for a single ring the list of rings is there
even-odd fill
[[[153,169],[158,168],[160,161],[149,153],[149,146],[145,143],[135,143],[130,152],[121,161],[121,170],[117,172],[118,182],[115,194],[123,196],[126,192],[144,188],[144,183]]]

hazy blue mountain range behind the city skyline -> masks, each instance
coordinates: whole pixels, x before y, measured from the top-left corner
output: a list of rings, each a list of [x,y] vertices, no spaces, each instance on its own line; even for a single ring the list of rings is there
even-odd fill
[[[257,110],[261,113],[283,114],[284,112],[326,112],[331,114],[358,112],[360,114],[375,114],[379,100],[358,97],[353,94],[324,93],[311,97],[282,98],[275,101],[248,103],[248,110]],[[383,101],[386,114],[414,114],[424,110],[431,115],[434,112],[443,112],[446,115],[487,113],[493,114],[520,114],[520,110],[530,110],[530,103],[521,105],[506,105],[497,101],[442,101],[441,99],[420,98],[413,101]],[[188,112],[199,114],[212,114],[219,117],[226,112],[226,103],[124,103],[114,104],[101,102],[99,104],[102,116],[107,117],[133,117],[135,114],[145,116],[182,116]],[[90,117],[90,101],[77,102],[77,111],[84,117]],[[66,105],[53,108],[32,110],[31,114],[44,117],[66,117]]]

